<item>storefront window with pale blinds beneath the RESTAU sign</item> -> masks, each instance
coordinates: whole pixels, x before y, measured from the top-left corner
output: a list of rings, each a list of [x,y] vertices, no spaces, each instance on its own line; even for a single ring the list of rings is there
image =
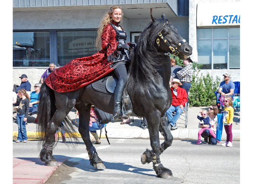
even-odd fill
[[[201,69],[240,69],[240,28],[197,30]]]

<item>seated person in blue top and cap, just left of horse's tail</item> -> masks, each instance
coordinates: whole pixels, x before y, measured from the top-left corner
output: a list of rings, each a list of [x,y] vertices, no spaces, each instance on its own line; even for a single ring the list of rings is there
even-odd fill
[[[37,105],[39,103],[39,92],[41,84],[36,83],[34,86],[35,91],[30,93],[30,103],[29,103],[29,114],[34,115],[37,112]]]

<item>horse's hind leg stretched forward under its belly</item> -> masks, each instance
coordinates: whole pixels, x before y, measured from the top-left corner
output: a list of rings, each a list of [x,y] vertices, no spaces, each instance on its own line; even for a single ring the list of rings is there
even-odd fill
[[[95,167],[95,169],[105,169],[103,161],[99,158],[95,147],[90,140],[89,134],[89,122],[90,122],[90,110],[91,104],[85,106],[83,103],[77,104],[76,109],[79,112],[79,127],[78,131],[81,134],[82,140],[85,143],[88,156],[90,159],[90,164]]]

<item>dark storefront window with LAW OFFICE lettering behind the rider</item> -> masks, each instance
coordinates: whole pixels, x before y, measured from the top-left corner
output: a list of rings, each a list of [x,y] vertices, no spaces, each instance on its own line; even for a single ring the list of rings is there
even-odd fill
[[[75,58],[95,54],[97,31],[58,31],[58,65],[63,66]]]

